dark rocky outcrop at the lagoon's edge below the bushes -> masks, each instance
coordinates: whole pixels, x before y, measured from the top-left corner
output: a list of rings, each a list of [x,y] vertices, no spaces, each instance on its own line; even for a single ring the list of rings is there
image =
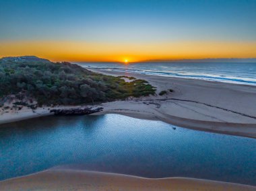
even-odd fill
[[[54,113],[57,116],[81,116],[93,114],[96,112],[101,112],[103,108],[72,108],[72,109],[63,109],[63,110],[51,110],[51,113]]]

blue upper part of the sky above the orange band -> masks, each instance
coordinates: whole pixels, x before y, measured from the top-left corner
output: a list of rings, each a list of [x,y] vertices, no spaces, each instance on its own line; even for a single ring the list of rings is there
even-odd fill
[[[0,40],[256,40],[256,1],[0,2]]]

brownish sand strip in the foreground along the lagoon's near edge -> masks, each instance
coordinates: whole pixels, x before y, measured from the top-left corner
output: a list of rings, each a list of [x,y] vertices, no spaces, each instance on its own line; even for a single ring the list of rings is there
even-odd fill
[[[0,181],[0,190],[255,190],[255,186],[195,178],[142,178],[123,174],[53,167]]]

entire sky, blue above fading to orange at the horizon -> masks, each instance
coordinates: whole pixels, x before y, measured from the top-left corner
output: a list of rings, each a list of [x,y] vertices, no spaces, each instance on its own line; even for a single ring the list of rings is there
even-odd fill
[[[255,58],[255,0],[0,0],[0,57]]]

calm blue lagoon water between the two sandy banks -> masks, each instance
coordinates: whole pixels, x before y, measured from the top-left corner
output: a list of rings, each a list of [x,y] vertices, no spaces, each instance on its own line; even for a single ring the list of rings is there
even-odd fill
[[[148,178],[179,176],[256,185],[256,139],[173,127],[117,114],[2,124],[0,180],[78,164]]]

